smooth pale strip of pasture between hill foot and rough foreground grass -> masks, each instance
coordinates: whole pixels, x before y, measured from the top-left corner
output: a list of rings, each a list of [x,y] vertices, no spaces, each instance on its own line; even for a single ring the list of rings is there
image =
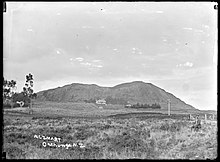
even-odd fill
[[[24,116],[44,116],[44,117],[149,117],[151,114],[159,117],[166,117],[166,109],[134,109],[124,108],[123,105],[103,105],[100,106],[93,103],[59,103],[59,102],[35,102],[33,106],[33,114],[28,114],[28,108],[4,109],[4,114],[24,115]],[[179,116],[187,116],[189,113],[198,114],[198,112],[189,112],[183,110],[171,110],[171,116],[181,114]],[[199,112],[201,113],[201,112]]]

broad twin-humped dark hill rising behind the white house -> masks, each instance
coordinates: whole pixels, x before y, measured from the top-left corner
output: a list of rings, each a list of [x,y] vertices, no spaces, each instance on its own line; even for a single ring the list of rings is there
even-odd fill
[[[37,93],[39,101],[94,102],[96,99],[105,99],[107,103],[122,105],[126,103],[158,103],[161,105],[161,109],[167,109],[167,100],[170,99],[173,110],[197,110],[173,94],[142,81],[123,83],[114,87],[73,83]]]

